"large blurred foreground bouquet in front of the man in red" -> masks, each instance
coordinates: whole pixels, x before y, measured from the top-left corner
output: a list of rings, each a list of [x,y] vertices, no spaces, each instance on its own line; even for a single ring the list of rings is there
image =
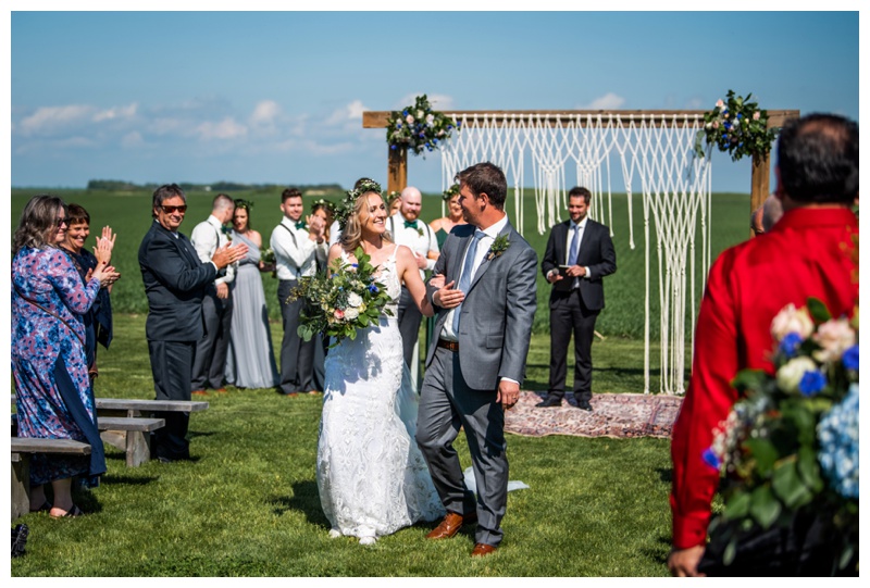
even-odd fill
[[[704,456],[723,473],[725,508],[710,528],[729,534],[728,565],[738,533],[809,513],[836,529],[843,567],[858,549],[858,308],[849,320],[817,299],[790,304],[771,335],[775,375],[737,375],[742,399]]]

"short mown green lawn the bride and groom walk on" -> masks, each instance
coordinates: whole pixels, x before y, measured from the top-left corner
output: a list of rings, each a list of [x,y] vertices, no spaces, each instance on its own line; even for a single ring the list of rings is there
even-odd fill
[[[145,316],[115,318],[112,347],[100,350],[97,396],[153,398]],[[273,326],[276,340],[279,330]],[[607,374],[638,346],[595,343],[596,391],[636,391],[636,374]],[[546,380],[535,358],[526,388]],[[501,549],[472,561],[470,530],[427,541],[434,524],[371,548],[327,537],[315,481],[321,397],[231,388],[208,400],[209,410],[190,418],[194,461],[127,468],[107,446],[102,484],[76,496],[87,516],[22,517],[30,538],[27,554],[11,560],[12,576],[667,575],[666,439],[509,435],[510,479],[530,488],[509,495]],[[470,465],[462,435],[458,448]]]

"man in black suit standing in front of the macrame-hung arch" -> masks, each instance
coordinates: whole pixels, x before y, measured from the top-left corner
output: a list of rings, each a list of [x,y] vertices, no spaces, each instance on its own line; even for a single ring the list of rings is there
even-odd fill
[[[574,334],[574,399],[591,411],[592,339],[595,320],[605,308],[601,278],[617,271],[617,253],[609,229],[587,216],[592,193],[575,187],[568,192],[569,221],[550,230],[540,261],[550,292],[550,381],[547,399],[538,406],[560,406],[568,372],[568,345]]]

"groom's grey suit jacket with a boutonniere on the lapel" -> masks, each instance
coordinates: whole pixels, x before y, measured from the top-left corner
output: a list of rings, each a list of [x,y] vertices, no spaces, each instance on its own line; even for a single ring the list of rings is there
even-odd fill
[[[445,275],[446,284],[459,284],[462,259],[474,230],[473,225],[458,225],[447,236],[433,270],[433,274]],[[493,259],[488,253],[484,257],[460,309],[459,363],[465,383],[476,390],[495,390],[502,377],[522,385],[537,305],[535,250],[510,223],[499,235],[508,237],[508,249]],[[426,290],[432,300],[436,288],[427,286]],[[435,309],[437,337],[449,311]],[[430,346],[426,367],[435,348]]]

